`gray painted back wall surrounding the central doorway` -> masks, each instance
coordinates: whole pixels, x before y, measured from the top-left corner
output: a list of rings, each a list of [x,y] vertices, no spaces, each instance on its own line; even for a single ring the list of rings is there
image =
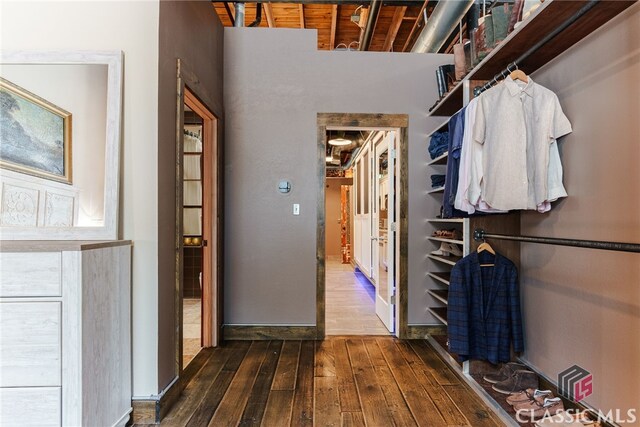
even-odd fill
[[[424,254],[437,212],[426,134],[438,119],[426,112],[451,56],[317,51],[314,30],[225,28],[224,44],[225,324],[315,324],[319,112],[409,115],[409,323],[437,323]]]

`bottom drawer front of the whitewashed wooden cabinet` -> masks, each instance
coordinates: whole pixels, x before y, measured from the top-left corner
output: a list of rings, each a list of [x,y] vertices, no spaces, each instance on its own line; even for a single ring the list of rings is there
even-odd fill
[[[0,427],[49,427],[61,421],[60,387],[0,388]]]

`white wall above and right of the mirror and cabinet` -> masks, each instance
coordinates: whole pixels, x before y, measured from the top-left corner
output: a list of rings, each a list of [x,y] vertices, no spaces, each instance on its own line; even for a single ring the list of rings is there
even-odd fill
[[[120,227],[133,249],[133,393],[157,394],[158,1],[0,3],[2,49],[122,50]]]

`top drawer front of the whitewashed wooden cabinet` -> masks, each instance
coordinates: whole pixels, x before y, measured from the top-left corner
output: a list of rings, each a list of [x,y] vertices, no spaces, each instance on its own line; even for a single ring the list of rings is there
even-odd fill
[[[61,295],[60,252],[0,253],[0,297]]]

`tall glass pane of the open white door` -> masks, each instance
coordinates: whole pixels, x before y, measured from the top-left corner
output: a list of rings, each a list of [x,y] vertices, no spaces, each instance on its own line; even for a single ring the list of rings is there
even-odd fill
[[[388,151],[378,155],[375,188],[378,215],[378,286],[377,291],[385,302],[389,302],[389,260],[387,238],[387,212],[389,209],[389,162]],[[375,226],[375,225],[374,225]]]

